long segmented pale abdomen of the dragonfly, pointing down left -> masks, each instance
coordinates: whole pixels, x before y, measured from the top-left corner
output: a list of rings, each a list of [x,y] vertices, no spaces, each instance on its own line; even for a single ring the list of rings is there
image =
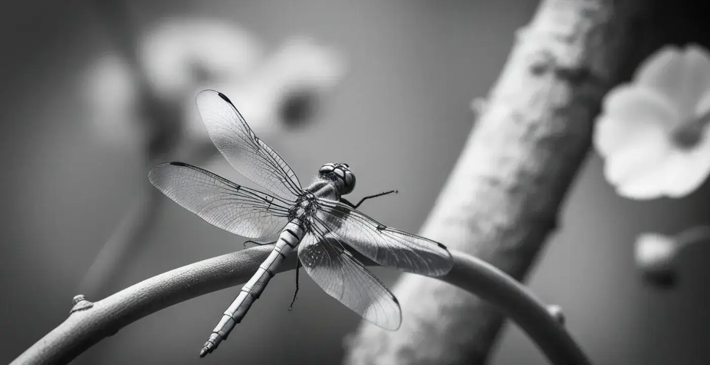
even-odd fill
[[[229,305],[222,315],[217,327],[214,327],[209,339],[204,343],[200,357],[213,352],[220,342],[224,341],[234,326],[241,322],[251,305],[261,296],[269,280],[273,278],[283,259],[295,249],[303,238],[304,231],[298,219],[293,219],[286,224],[278,241],[266,260],[261,263],[256,273],[241,287],[239,295]]]

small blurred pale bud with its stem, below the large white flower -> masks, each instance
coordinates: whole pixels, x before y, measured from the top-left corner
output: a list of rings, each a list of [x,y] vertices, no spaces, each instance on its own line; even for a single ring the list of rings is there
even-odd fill
[[[636,267],[651,285],[672,288],[677,282],[679,254],[689,246],[702,243],[710,243],[710,227],[691,227],[675,236],[640,234],[635,243]]]

